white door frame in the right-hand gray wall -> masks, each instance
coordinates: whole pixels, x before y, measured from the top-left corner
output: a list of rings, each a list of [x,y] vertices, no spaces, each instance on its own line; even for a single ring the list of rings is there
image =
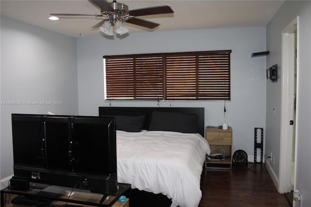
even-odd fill
[[[292,152],[293,133],[297,137],[297,132],[293,132],[293,125],[290,120],[294,120],[294,32],[297,31],[297,57],[299,58],[299,16],[296,17],[287,27],[282,30],[282,65],[281,65],[281,137],[280,137],[280,162],[279,162],[279,185],[280,193],[290,192],[292,189]],[[296,61],[297,81],[296,96],[298,96],[299,61]],[[296,97],[298,100],[298,97]],[[296,103],[296,106],[298,104]],[[298,108],[296,108],[296,111]],[[298,113],[296,113],[297,116]],[[298,120],[297,117],[295,119]],[[298,122],[295,123],[296,128]],[[295,142],[297,139],[295,139]],[[294,154],[294,174],[296,173],[296,147]],[[290,153],[289,153],[290,152]],[[294,186],[295,186],[294,177]]]

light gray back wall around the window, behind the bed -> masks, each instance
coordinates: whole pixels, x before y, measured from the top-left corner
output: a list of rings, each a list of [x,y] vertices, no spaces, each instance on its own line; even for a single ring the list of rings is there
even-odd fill
[[[98,106],[157,106],[156,101],[104,101],[103,55],[153,52],[232,50],[231,101],[163,101],[160,106],[205,107],[205,124],[233,127],[233,152],[254,155],[254,127],[265,127],[266,28],[228,28],[130,34],[114,40],[103,36],[78,38],[79,114],[98,115]],[[259,134],[260,136],[260,134]]]

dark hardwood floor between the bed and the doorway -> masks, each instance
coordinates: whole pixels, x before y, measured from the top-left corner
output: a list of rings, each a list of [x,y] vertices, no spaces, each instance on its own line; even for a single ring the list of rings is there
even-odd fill
[[[248,168],[253,163],[248,163]],[[256,163],[253,171],[260,172]],[[266,168],[253,173],[246,165],[232,170],[204,170],[201,177],[202,199],[199,207],[290,207],[284,194],[277,192]]]

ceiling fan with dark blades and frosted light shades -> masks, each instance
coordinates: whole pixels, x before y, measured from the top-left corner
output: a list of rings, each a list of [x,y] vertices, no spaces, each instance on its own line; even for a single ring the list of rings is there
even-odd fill
[[[136,18],[146,15],[158,15],[158,14],[173,14],[173,10],[170,6],[155,6],[141,9],[128,10],[128,6],[123,3],[119,3],[116,0],[108,2],[107,0],[88,0],[94,6],[100,9],[100,15],[85,15],[85,14],[50,14],[52,16],[94,16],[104,17],[102,21],[95,24],[91,28],[99,28],[100,31],[106,35],[114,35],[114,31],[123,35],[129,30],[123,24],[124,22],[135,24],[138,26],[154,29],[159,26],[158,23],[147,21],[144,19]]]

